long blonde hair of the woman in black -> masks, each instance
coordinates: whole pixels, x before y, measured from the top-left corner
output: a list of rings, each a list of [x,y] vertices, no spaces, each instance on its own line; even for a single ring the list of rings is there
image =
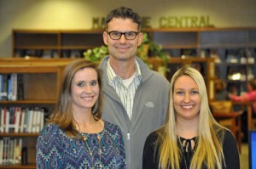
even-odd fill
[[[201,73],[194,68],[185,66],[172,76],[169,114],[166,118],[166,123],[161,132],[158,132],[156,144],[160,144],[159,168],[179,169],[181,161],[181,151],[177,144],[177,129],[176,129],[176,114],[173,105],[173,88],[175,82],[180,76],[190,76],[196,82],[201,97],[201,109],[199,115],[199,131],[198,143],[195,149],[195,154],[192,157],[190,169],[201,168],[206,165],[207,168],[222,168],[224,154],[222,142],[224,138],[224,127],[218,125],[218,122],[212,117],[211,110],[208,105],[207,88]]]

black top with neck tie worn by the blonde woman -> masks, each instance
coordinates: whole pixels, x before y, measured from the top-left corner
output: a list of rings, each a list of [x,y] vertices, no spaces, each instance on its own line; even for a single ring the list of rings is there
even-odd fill
[[[143,149],[143,169],[158,169],[159,167],[159,148],[160,144],[155,144],[158,138],[157,131],[152,132],[148,135]],[[195,147],[192,149],[192,143],[195,143]],[[177,143],[179,149],[183,153],[182,159],[180,160],[181,169],[189,169],[190,161],[194,155],[195,149],[197,149],[196,138],[185,139],[178,138]],[[182,146],[183,145],[183,146]],[[222,165],[223,169],[240,169],[239,153],[237,149],[236,139],[232,132],[226,130],[224,133],[224,162]],[[226,166],[224,166],[224,163]],[[172,169],[170,167],[170,169]],[[207,169],[207,166],[202,166],[202,169]]]

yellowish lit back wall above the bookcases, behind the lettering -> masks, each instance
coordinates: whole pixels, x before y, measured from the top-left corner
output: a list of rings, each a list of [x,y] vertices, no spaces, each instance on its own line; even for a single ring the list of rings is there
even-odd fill
[[[93,17],[119,6],[151,17],[209,16],[215,27],[256,27],[255,0],[0,0],[0,57],[11,57],[12,29],[90,29]]]

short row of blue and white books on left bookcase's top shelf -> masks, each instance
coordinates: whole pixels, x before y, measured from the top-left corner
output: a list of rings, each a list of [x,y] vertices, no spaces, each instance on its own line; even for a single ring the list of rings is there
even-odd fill
[[[0,74],[0,100],[24,99],[22,74]]]

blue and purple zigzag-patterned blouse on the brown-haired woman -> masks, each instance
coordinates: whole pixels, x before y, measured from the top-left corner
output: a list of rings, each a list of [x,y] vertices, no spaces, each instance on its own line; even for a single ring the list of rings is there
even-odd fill
[[[46,125],[37,142],[37,168],[123,169],[125,146],[118,126],[104,121],[99,133],[82,133],[83,139],[67,137],[54,124]]]

